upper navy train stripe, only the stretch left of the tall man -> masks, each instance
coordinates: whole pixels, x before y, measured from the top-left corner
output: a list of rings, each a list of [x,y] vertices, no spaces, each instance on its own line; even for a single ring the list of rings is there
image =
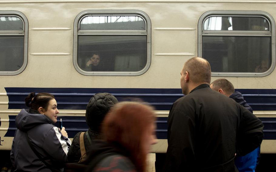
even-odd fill
[[[155,88],[5,88],[8,95],[9,109],[22,109],[25,97],[30,92],[52,93],[59,109],[85,110],[90,98],[100,92],[113,94],[118,101],[140,99],[153,105],[157,110],[170,110],[175,100],[182,97],[181,89]]]

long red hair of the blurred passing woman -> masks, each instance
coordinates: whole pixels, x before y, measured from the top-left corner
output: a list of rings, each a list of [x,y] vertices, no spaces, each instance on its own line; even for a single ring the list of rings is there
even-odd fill
[[[104,119],[103,138],[124,147],[137,171],[145,171],[148,152],[142,146],[144,136],[154,121],[152,107],[138,102],[120,102]]]

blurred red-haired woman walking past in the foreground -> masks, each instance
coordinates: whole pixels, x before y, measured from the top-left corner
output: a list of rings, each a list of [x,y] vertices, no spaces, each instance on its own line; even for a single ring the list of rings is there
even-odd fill
[[[153,108],[137,102],[121,102],[103,121],[103,139],[90,151],[88,171],[146,171],[146,157],[155,135]]]

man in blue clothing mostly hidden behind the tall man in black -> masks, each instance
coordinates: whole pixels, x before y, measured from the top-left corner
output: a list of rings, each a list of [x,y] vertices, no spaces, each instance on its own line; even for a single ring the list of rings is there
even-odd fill
[[[210,84],[210,88],[227,97],[234,99],[237,103],[241,104],[248,111],[253,113],[252,108],[246,103],[243,95],[234,89],[234,85],[227,79],[217,79]],[[258,158],[260,155],[260,147],[254,151],[246,154],[245,156],[236,156],[235,165],[239,172],[255,172]]]

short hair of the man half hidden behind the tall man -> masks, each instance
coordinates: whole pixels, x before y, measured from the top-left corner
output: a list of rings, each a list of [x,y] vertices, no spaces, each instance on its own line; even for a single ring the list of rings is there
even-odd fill
[[[235,92],[234,85],[227,79],[217,79],[211,83],[213,89],[218,91],[222,89],[226,94],[233,94]]]

